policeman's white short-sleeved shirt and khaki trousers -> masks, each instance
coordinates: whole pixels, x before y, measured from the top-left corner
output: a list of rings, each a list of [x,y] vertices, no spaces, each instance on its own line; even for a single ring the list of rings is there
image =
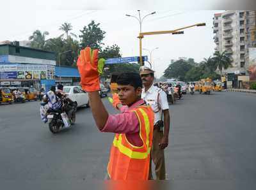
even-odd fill
[[[157,103],[157,96],[159,94]],[[168,110],[169,105],[166,97],[166,93],[159,89],[158,87],[152,85],[147,92],[145,92],[145,88],[142,90],[141,98],[143,98],[148,105],[152,107],[154,111],[154,132],[153,132],[153,142],[152,142],[152,151],[151,151],[151,159],[150,159],[150,171],[149,171],[149,179],[153,179],[152,177],[152,169],[151,163],[154,162],[156,168],[156,178],[157,180],[165,179],[165,163],[164,163],[164,149],[160,149],[159,143],[163,138],[163,131],[159,131],[156,128],[157,121],[161,120],[161,112],[163,110]],[[159,107],[161,110],[159,110]]]

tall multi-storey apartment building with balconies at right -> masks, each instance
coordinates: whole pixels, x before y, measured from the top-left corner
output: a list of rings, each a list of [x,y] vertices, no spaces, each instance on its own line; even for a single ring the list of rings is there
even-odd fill
[[[237,85],[236,75],[248,75],[249,48],[256,45],[253,38],[255,29],[255,11],[224,11],[214,14],[213,33],[214,50],[227,52],[232,68],[223,70],[232,86]]]

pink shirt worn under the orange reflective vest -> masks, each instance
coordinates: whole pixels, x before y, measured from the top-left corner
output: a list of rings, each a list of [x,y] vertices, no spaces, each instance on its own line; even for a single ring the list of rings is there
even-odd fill
[[[131,106],[122,106],[120,111],[122,113],[109,115],[108,121],[106,122],[102,132],[110,132],[110,133],[125,133],[127,140],[135,146],[142,146],[143,142],[140,138],[140,122],[136,113],[130,112],[133,108],[138,107],[144,103],[143,99],[136,101]]]

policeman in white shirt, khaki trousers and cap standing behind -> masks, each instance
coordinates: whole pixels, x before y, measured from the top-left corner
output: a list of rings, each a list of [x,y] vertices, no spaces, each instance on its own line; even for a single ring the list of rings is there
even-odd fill
[[[155,115],[149,179],[153,179],[151,168],[153,161],[156,166],[156,179],[164,180],[166,179],[164,149],[168,146],[170,129],[169,105],[166,93],[162,89],[152,85],[154,81],[154,71],[150,68],[143,67],[140,70],[140,76],[144,87],[141,97],[152,107]]]

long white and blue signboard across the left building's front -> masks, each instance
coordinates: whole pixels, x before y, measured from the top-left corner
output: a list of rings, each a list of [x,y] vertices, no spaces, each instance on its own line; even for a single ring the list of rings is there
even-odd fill
[[[53,79],[55,66],[24,64],[0,65],[0,79]]]

